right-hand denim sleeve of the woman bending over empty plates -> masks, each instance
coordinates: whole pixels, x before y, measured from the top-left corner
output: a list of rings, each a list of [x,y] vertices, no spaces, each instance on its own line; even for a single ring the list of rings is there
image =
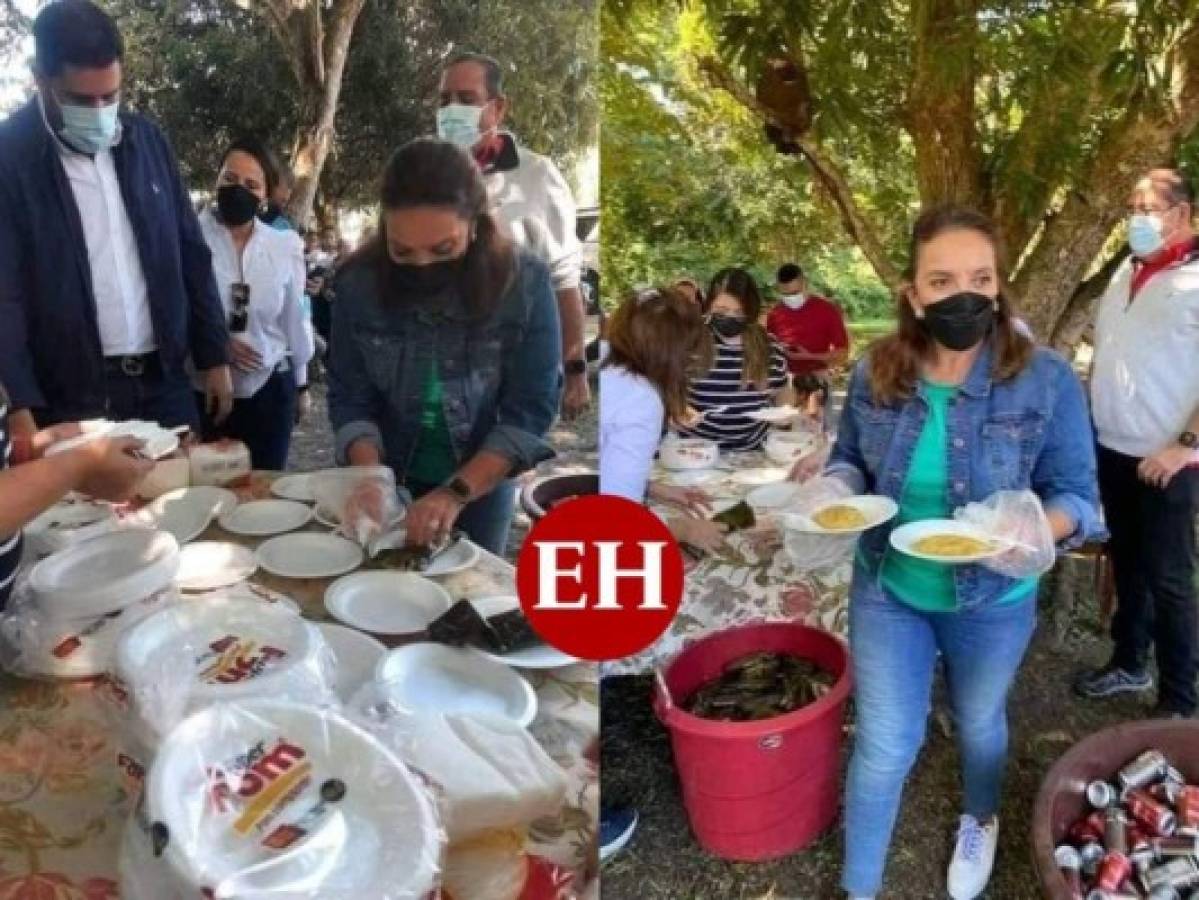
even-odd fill
[[[519,266],[516,289],[523,292],[525,309],[523,340],[519,352],[505,354],[496,423],[480,447],[508,459],[511,475],[554,455],[544,437],[562,393],[562,332],[549,270],[529,258]]]

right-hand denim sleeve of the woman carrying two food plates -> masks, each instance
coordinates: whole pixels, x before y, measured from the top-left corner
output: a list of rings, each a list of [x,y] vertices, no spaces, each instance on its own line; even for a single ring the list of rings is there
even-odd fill
[[[1089,540],[1105,540],[1108,532],[1099,514],[1095,433],[1083,385],[1065,361],[1059,361],[1058,368],[1056,401],[1044,447],[1032,466],[1032,490],[1046,512],[1056,509],[1074,523],[1074,533],[1060,544],[1073,550]]]

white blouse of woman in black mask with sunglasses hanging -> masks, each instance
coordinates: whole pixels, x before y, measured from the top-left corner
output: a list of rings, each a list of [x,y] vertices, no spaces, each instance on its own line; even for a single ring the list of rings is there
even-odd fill
[[[230,337],[257,350],[263,366],[248,373],[231,367],[234,397],[240,399],[257,394],[288,357],[296,385],[306,385],[313,355],[312,334],[305,327],[303,242],[295,231],[277,231],[257,217],[253,222],[239,265],[229,229],[217,222],[211,209],[200,213],[200,230],[212,250],[212,273],[227,316],[233,314],[233,285],[249,285],[248,327]],[[200,382],[194,383],[200,389]]]

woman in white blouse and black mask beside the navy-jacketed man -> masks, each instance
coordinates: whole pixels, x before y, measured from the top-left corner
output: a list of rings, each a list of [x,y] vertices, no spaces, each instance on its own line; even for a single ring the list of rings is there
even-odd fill
[[[313,355],[303,313],[303,243],[257,215],[277,179],[264,145],[235,141],[221,162],[216,203],[200,215],[229,316],[234,370],[233,413],[219,427],[205,416],[204,436],[243,441],[254,469],[267,470],[287,467],[297,397],[307,389]]]

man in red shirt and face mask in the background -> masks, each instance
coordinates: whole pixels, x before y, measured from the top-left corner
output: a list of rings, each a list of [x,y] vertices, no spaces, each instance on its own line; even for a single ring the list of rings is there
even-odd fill
[[[814,376],[827,393],[829,369],[849,361],[845,316],[836,303],[808,292],[803,270],[794,262],[779,266],[776,279],[779,302],[766,316],[766,331],[783,345],[797,386]]]

